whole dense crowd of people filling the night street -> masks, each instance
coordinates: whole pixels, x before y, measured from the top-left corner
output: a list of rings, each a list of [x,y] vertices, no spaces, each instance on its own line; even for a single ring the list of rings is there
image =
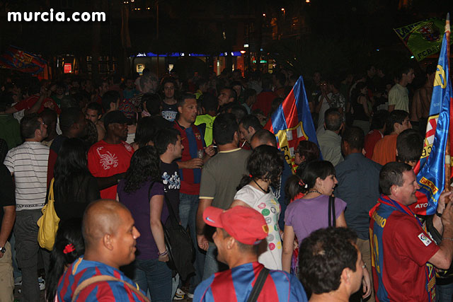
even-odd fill
[[[299,78],[287,69],[6,77],[0,301],[15,284],[21,301],[452,301],[453,194],[413,214],[434,75],[316,71],[318,144],[300,141],[295,173],[263,129]],[[194,247],[187,278],[168,265],[171,215]]]

